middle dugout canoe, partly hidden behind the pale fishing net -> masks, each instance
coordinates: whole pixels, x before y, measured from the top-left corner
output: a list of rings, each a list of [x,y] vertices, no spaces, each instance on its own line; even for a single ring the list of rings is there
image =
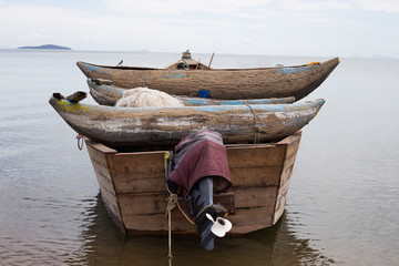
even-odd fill
[[[123,88],[117,88],[109,82],[102,80],[88,79],[88,85],[90,89],[90,94],[93,99],[101,105],[114,106],[116,101],[120,100],[125,90]],[[254,100],[214,100],[214,99],[204,99],[204,98],[187,98],[187,96],[176,96],[181,100],[185,106],[195,106],[195,105],[234,105],[234,104],[278,104],[278,103],[293,103],[295,98],[272,98],[272,99],[254,99]]]

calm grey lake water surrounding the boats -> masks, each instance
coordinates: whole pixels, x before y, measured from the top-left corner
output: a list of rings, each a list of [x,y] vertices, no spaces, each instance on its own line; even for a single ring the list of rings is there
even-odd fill
[[[166,237],[126,237],[109,219],[85,149],[48,100],[88,91],[76,60],[165,66],[178,57],[0,50],[0,265],[167,265]],[[216,54],[213,66],[315,60],[326,58]],[[174,237],[173,265],[399,265],[398,65],[341,59],[307,98],[327,103],[304,129],[279,223],[217,239],[211,253]]]

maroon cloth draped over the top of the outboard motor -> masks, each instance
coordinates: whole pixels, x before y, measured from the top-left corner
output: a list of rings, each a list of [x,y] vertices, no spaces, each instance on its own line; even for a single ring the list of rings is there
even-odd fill
[[[170,178],[183,186],[187,195],[195,182],[205,176],[215,176],[215,193],[232,186],[223,137],[213,131],[192,133],[175,146],[174,170]]]

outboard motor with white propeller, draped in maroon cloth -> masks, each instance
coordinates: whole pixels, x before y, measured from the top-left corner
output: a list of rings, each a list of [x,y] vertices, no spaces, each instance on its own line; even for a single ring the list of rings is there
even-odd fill
[[[225,192],[232,186],[222,135],[204,130],[184,137],[171,152],[166,183],[173,193],[183,187],[201,246],[212,250],[215,236],[223,237],[232,228],[232,223],[223,218],[227,209],[213,202],[214,191]]]

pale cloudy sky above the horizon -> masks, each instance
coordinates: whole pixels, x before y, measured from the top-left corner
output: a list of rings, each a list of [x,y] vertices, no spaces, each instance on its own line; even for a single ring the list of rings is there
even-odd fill
[[[399,59],[399,0],[0,0],[0,49]]]

